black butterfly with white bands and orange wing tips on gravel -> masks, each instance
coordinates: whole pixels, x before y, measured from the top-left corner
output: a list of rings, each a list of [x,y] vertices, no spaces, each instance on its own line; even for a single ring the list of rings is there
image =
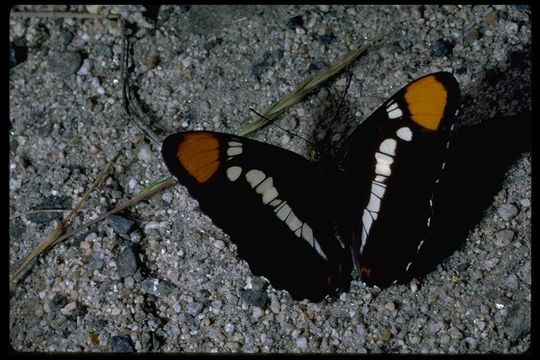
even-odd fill
[[[429,237],[459,86],[447,72],[386,100],[330,158],[310,161],[211,131],[168,136],[164,162],[237,245],[253,274],[293,299],[407,279]]]

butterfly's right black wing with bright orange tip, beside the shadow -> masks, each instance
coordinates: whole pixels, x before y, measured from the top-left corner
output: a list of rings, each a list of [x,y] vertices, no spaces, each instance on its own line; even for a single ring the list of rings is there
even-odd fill
[[[383,103],[342,147],[351,250],[368,285],[406,280],[428,236],[458,98],[451,74],[422,77]]]

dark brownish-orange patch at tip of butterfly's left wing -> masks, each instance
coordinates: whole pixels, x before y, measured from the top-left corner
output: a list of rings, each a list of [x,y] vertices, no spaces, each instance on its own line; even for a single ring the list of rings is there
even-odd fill
[[[189,175],[205,183],[219,168],[219,141],[210,133],[186,134],[176,156]]]

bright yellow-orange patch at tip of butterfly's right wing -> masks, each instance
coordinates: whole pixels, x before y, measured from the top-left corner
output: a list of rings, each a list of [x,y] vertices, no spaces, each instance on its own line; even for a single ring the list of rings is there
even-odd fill
[[[415,81],[405,89],[405,101],[409,107],[411,119],[418,125],[433,131],[439,128],[447,97],[446,88],[433,75]]]

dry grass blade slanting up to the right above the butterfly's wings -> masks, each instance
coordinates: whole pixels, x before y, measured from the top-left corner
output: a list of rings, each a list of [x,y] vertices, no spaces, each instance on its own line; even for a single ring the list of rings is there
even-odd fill
[[[237,134],[240,136],[246,136],[247,134],[250,134],[253,131],[265,126],[269,121],[272,121],[290,107],[298,104],[302,100],[302,98],[304,98],[317,86],[323,84],[324,82],[332,78],[334,75],[338,74],[346,66],[352,63],[358,56],[360,56],[365,51],[365,49],[366,48],[362,46],[358,49],[352,50],[329,68],[321,70],[318,73],[308,77],[300,85],[298,85],[296,89],[294,89],[293,92],[291,92],[289,95],[287,95],[280,101],[277,101],[274,104],[270,105],[270,107],[262,113],[262,118],[259,117],[254,122],[243,126],[237,132]]]

